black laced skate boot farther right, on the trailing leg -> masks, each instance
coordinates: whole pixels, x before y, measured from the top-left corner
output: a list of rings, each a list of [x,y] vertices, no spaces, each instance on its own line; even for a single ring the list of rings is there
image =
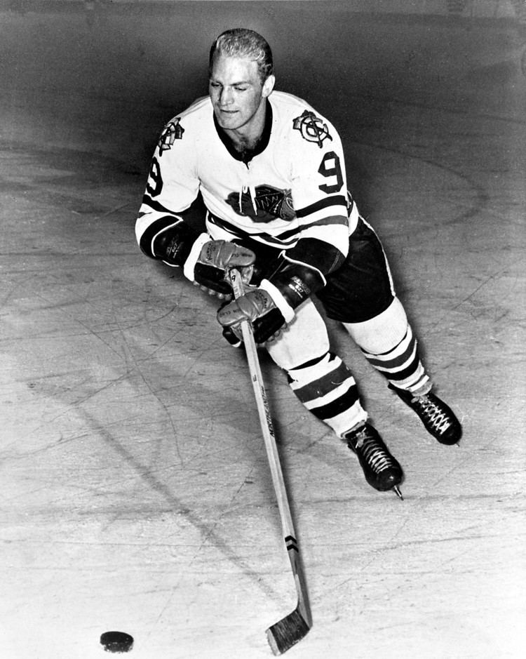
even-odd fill
[[[417,396],[411,392],[389,385],[406,405],[419,416],[427,432],[440,444],[457,444],[462,434],[462,427],[452,410],[431,392]]]

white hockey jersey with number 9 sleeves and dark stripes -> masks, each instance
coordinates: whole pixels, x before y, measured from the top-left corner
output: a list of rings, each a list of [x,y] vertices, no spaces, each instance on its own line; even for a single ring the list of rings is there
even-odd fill
[[[168,122],[136,223],[145,253],[154,256],[156,235],[179,220],[199,191],[210,237],[250,237],[323,274],[346,256],[358,220],[334,126],[278,91],[267,99],[264,134],[247,161],[217,125],[209,97]]]

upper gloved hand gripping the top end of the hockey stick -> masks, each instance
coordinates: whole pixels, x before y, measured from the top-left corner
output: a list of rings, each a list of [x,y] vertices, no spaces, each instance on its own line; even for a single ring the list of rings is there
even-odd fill
[[[209,240],[201,247],[194,266],[194,284],[203,291],[219,298],[231,299],[232,289],[228,281],[230,268],[241,272],[243,284],[252,277],[255,253],[226,240]]]

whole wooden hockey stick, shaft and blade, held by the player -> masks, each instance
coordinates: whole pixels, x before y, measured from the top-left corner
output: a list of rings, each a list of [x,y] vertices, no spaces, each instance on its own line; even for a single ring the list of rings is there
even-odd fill
[[[241,274],[239,274],[238,270],[231,269],[230,282],[234,290],[234,297],[238,298],[240,295],[243,295],[243,280],[241,279]],[[285,618],[278,620],[277,623],[271,625],[267,630],[267,639],[269,640],[272,651],[275,655],[279,655],[283,654],[283,652],[287,651],[298,641],[301,641],[307,632],[309,632],[312,627],[312,617],[306,592],[302,563],[299,556],[299,547],[297,545],[294,525],[292,524],[292,515],[290,514],[285,482],[283,481],[283,472],[281,470],[278,448],[276,446],[276,437],[274,435],[274,427],[272,425],[269,411],[269,403],[267,401],[261,367],[259,366],[259,359],[257,357],[257,347],[254,335],[252,334],[252,326],[248,321],[243,321],[243,323],[241,323],[241,331],[243,332],[243,342],[245,343],[250,379],[252,380],[252,387],[256,399],[259,424],[261,425],[264,444],[267,449],[267,458],[269,460],[274,491],[276,492],[276,498],[278,499],[283,538],[285,540],[285,547],[287,548],[290,565],[292,566],[292,574],[294,575],[297,592],[297,606],[294,611],[285,615]]]

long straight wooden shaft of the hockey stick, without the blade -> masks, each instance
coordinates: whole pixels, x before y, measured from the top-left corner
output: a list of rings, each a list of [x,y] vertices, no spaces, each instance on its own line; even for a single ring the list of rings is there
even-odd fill
[[[234,290],[234,296],[238,298],[239,295],[243,295],[243,281],[238,270],[231,269],[230,281]],[[241,323],[241,331],[243,333],[243,342],[245,344],[245,352],[248,360],[250,379],[252,380],[252,388],[254,390],[257,413],[259,416],[259,425],[261,426],[265,449],[267,451],[272,484],[274,485],[274,491],[278,500],[278,510],[281,517],[283,538],[285,540],[285,546],[287,547],[287,553],[290,559],[290,564],[292,566],[292,572],[294,573],[294,580],[298,595],[298,607],[304,616],[306,623],[310,627],[312,624],[311,611],[309,608],[308,599],[306,597],[306,583],[302,563],[299,559],[299,548],[297,546],[296,533],[292,521],[292,514],[290,512],[287,489],[283,479],[283,471],[281,470],[278,447],[276,446],[276,436],[274,434],[274,426],[272,425],[269,411],[267,393],[265,392],[261,366],[259,366],[259,358],[257,357],[257,346],[254,340],[254,335],[252,334],[252,326],[250,326],[248,321],[243,321]]]

